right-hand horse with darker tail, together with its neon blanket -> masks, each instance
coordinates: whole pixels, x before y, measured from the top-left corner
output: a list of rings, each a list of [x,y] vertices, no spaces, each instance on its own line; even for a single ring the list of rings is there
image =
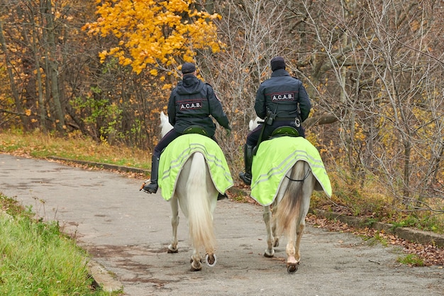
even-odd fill
[[[250,121],[250,130],[258,119]],[[299,245],[313,190],[331,196],[331,183],[318,150],[305,138],[277,135],[260,143],[252,161],[251,197],[264,206],[265,257],[274,256],[279,236],[287,236],[287,271],[301,260]]]

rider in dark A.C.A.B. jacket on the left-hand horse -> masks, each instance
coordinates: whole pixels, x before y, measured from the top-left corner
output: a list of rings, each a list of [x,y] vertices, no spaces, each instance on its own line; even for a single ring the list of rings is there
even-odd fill
[[[227,135],[231,133],[231,126],[222,104],[214,94],[210,84],[206,84],[196,77],[196,66],[191,62],[185,62],[182,65],[182,81],[177,84],[168,101],[168,119],[174,127],[169,131],[154,148],[152,153],[151,178],[150,184],[143,187],[147,193],[157,192],[157,176],[159,170],[159,159],[162,150],[170,144],[175,138],[181,136],[187,128],[199,126],[204,130],[206,136],[214,141],[216,125],[209,117],[214,119],[226,128]]]

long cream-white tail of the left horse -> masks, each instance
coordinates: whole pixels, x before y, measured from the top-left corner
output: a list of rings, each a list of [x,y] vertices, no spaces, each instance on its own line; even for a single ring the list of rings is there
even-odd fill
[[[187,182],[189,236],[194,248],[204,246],[206,252],[213,252],[216,247],[216,235],[213,229],[213,214],[206,178],[208,168],[202,153],[192,155],[192,165]]]

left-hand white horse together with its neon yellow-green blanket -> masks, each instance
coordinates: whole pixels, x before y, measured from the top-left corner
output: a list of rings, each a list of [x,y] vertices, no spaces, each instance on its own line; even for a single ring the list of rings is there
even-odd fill
[[[162,136],[172,126],[168,117],[160,114]],[[200,249],[206,252],[206,264],[216,265],[216,237],[213,229],[213,212],[218,194],[225,194],[233,186],[226,158],[211,138],[187,133],[172,141],[162,152],[158,183],[162,197],[172,209],[172,242],[168,253],[177,253],[177,226],[179,206],[188,219],[189,238],[193,253],[191,270],[201,270]]]

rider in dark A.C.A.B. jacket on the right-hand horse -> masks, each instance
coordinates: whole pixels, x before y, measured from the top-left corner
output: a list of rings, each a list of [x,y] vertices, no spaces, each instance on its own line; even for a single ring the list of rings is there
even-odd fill
[[[245,172],[240,172],[239,177],[246,185],[251,185],[252,156],[255,146],[260,144],[258,142],[267,140],[279,126],[292,126],[299,136],[305,138],[301,123],[309,117],[311,110],[304,85],[285,70],[285,60],[282,57],[273,57],[270,65],[272,76],[260,84],[255,101],[256,114],[265,119],[265,124],[248,133],[244,146]]]

